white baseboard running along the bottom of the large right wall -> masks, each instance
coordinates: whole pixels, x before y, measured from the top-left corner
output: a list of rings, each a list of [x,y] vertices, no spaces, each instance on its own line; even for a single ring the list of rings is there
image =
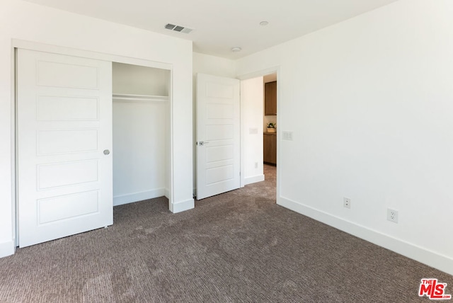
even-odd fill
[[[323,222],[331,227],[345,231],[348,234],[364,239],[378,246],[382,246],[400,255],[411,258],[415,261],[431,266],[438,270],[442,270],[449,275],[453,275],[453,259],[447,256],[440,255],[426,248],[416,246],[401,239],[396,239],[392,236],[382,234],[379,231],[369,229],[360,224],[355,224],[345,219],[330,215],[326,212],[321,212],[312,207],[304,205],[287,198],[278,197],[277,204],[283,207],[298,212],[299,214],[311,217],[316,221]]]

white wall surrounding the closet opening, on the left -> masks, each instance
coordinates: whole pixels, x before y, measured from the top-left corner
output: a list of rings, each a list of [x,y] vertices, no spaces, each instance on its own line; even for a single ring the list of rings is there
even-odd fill
[[[192,42],[18,0],[2,1],[0,29],[0,256],[14,251],[13,39],[171,64],[170,208],[193,207]]]

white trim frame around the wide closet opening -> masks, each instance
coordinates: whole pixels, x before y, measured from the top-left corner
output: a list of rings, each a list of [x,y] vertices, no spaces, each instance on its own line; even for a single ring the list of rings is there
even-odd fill
[[[13,167],[11,168],[12,171],[12,219],[13,219],[13,241],[15,246],[18,246],[18,166],[17,166],[17,161],[18,161],[18,131],[17,131],[17,115],[18,115],[18,110],[17,110],[17,49],[21,48],[24,50],[35,50],[35,51],[40,51],[40,52],[50,52],[50,53],[55,53],[59,55],[69,55],[69,56],[74,56],[74,57],[85,57],[88,59],[98,59],[102,61],[109,61],[109,62],[118,62],[118,63],[125,63],[125,64],[133,64],[133,65],[139,65],[143,67],[154,67],[158,69],[167,69],[170,71],[170,89],[169,89],[169,100],[168,102],[170,103],[170,113],[169,113],[169,127],[170,127],[170,140],[169,140],[169,149],[170,149],[170,161],[169,161],[169,173],[170,173],[170,178],[169,181],[170,183],[168,184],[168,208],[169,210],[172,211],[173,209],[173,197],[174,195],[174,166],[173,166],[173,64],[170,63],[164,63],[164,62],[154,62],[151,60],[147,59],[138,59],[138,58],[133,58],[133,57],[125,57],[125,56],[120,56],[120,55],[111,55],[107,53],[101,53],[101,52],[92,52],[88,50],[78,50],[70,47],[62,47],[62,46],[57,46],[57,45],[47,45],[44,43],[40,42],[31,42],[27,40],[19,40],[19,39],[13,39],[11,40],[11,57],[13,58],[13,66],[11,66],[11,79],[14,79],[11,81],[11,96],[13,96],[11,100],[11,142],[12,145],[12,151],[11,154],[13,155],[11,159],[11,162],[13,163]]]

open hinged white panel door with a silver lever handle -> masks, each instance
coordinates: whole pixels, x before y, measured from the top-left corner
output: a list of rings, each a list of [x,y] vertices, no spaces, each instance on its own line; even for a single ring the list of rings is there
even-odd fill
[[[197,200],[241,185],[240,81],[197,74]]]

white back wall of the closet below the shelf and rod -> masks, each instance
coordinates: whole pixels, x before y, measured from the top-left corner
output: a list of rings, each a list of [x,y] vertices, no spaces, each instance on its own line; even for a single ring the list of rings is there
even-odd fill
[[[166,195],[168,104],[113,101],[113,205]]]

